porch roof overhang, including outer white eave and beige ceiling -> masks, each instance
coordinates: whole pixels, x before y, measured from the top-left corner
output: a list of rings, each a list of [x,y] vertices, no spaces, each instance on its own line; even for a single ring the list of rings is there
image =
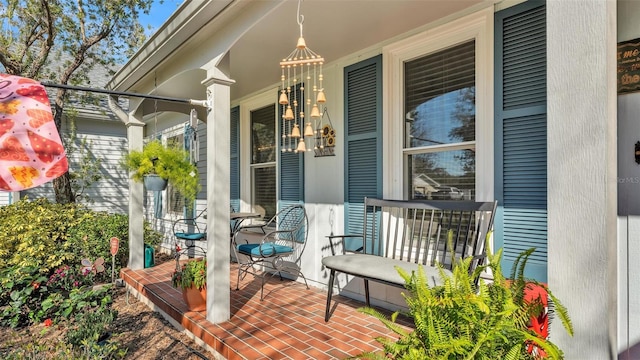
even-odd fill
[[[498,2],[305,0],[301,4],[301,14],[305,16],[304,36],[307,44],[329,64],[355,51],[445,22],[453,14],[477,11]],[[214,46],[210,43],[210,36],[215,31],[229,31],[228,36],[236,37],[225,39],[231,43],[228,50],[231,58],[229,71],[235,80],[231,86],[232,100],[277,86],[280,79],[278,63],[295,47],[299,36],[297,6],[295,0],[270,3],[187,0],[114,75],[108,86],[120,91],[151,92],[157,69],[178,61],[176,57],[181,57],[184,50]],[[251,11],[262,14],[253,18],[240,16]],[[230,28],[233,30],[228,30]],[[207,60],[210,59],[200,61]],[[184,62],[183,59],[180,61]],[[194,64],[190,62],[191,69],[195,68]],[[179,72],[173,75],[176,73]],[[204,86],[193,77],[195,73],[187,73],[189,76],[183,81],[163,86],[162,91],[156,89],[156,93],[198,98],[195,92],[202,97]]]

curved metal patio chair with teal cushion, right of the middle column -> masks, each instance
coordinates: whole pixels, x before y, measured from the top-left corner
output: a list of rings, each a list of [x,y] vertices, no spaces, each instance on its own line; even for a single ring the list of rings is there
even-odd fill
[[[233,239],[237,253],[246,257],[246,260],[239,261],[236,290],[239,290],[240,278],[251,273],[260,278],[260,300],[263,300],[267,279],[278,274],[282,280],[283,272],[294,277],[301,276],[308,289],[309,284],[300,263],[309,231],[304,206],[287,206],[264,224],[241,227],[236,235],[251,229],[262,231],[258,232],[262,237],[259,243],[236,244],[235,237]]]

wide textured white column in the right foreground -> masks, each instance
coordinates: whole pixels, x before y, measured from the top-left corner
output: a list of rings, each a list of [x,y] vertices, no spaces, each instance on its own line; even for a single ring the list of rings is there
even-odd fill
[[[575,337],[567,359],[615,359],[616,2],[547,1],[548,274]]]

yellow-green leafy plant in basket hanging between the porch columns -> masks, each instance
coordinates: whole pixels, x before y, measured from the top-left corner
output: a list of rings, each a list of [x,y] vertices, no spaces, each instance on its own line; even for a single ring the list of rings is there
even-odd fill
[[[133,172],[133,180],[144,181],[149,190],[163,190],[152,185],[152,177],[164,180],[165,187],[170,182],[187,204],[192,204],[200,191],[198,168],[189,160],[189,154],[177,146],[164,146],[159,140],[147,143],[142,151],[129,151],[123,166]]]

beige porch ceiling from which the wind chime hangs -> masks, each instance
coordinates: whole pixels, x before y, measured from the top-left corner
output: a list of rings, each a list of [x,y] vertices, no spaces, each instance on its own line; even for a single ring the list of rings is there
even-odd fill
[[[487,0],[304,0],[304,37],[326,63]],[[278,63],[299,36],[298,2],[286,0],[255,24],[231,49],[231,98],[278,83]]]

